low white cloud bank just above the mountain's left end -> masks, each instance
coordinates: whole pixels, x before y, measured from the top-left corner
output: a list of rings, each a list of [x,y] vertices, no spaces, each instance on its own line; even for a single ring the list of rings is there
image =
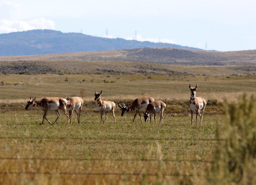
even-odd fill
[[[9,33],[16,31],[27,31],[35,29],[55,29],[55,22],[45,18],[37,18],[29,21],[22,20],[0,20],[0,33]]]

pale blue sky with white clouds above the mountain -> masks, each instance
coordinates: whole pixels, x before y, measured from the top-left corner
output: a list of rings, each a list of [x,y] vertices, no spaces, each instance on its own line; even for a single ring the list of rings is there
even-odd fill
[[[255,7],[255,0],[0,0],[0,34],[52,29],[249,50],[256,49]]]

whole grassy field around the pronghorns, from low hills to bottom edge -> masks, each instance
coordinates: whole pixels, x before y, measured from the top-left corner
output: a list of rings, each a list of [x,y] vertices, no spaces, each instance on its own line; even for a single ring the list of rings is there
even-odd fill
[[[0,184],[215,184],[221,179],[218,174],[214,181],[216,151],[226,138],[224,100],[237,101],[244,92],[254,95],[256,82],[255,75],[111,73],[0,79]],[[197,96],[210,103],[203,126],[196,126],[195,119],[190,124],[189,84],[198,84]],[[141,124],[138,117],[132,123],[134,112],[121,117],[118,107],[116,124],[111,114],[100,124],[94,90],[103,90],[102,99],[116,104],[146,95],[162,100],[167,104],[164,124]],[[68,125],[61,112],[56,124],[40,126],[42,110],[24,110],[30,96],[83,97],[81,123],[74,114]]]

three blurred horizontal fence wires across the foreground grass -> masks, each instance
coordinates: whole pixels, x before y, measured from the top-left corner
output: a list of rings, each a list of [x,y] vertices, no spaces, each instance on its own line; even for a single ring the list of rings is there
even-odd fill
[[[224,139],[216,139],[216,138],[97,138],[97,137],[0,137],[0,140],[83,140],[85,143],[108,143],[109,140],[114,141],[128,141],[129,139],[133,141],[204,141],[204,142],[217,142],[217,141],[225,141]],[[30,161],[30,160],[42,160],[42,161],[131,161],[131,162],[150,162],[150,161],[158,161],[158,162],[190,162],[190,163],[209,163],[213,164],[212,160],[187,160],[187,159],[137,159],[137,158],[118,158],[118,159],[108,159],[108,158],[49,158],[49,157],[1,157],[0,161],[3,160],[16,160],[16,161]],[[0,171],[1,175],[10,175],[10,174],[27,174],[27,175],[98,175],[98,176],[107,176],[107,175],[125,175],[125,176],[163,176],[163,177],[191,177],[195,174],[168,174],[168,173],[127,173],[127,172],[47,172],[47,171]],[[196,176],[201,176],[201,174],[196,174]]]

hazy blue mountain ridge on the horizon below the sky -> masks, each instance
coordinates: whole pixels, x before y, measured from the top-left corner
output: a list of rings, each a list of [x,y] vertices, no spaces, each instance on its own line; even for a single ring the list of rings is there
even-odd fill
[[[55,30],[30,30],[0,34],[0,56],[42,55],[67,52],[171,47],[202,50],[169,43],[103,38]]]

